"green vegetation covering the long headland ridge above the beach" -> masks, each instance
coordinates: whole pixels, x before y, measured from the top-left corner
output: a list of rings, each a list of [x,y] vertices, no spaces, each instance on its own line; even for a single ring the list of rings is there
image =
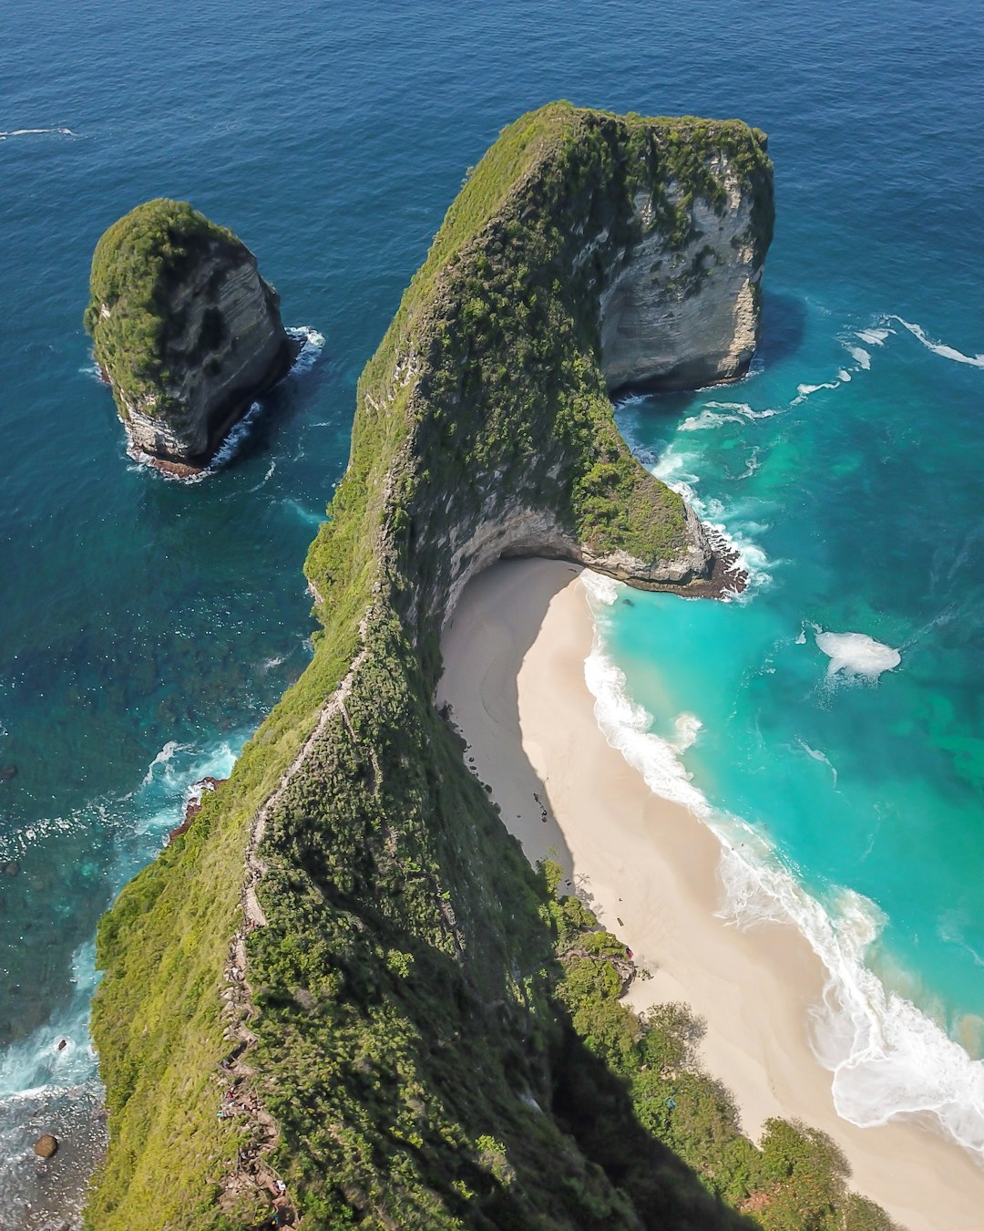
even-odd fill
[[[721,204],[720,151],[768,243],[768,159],[737,122],[557,103],[506,129],[451,206],[359,384],[308,560],[314,661],[100,927],[111,1146],[89,1227],[261,1216],[256,1192],[221,1195],[253,1129],[216,1108],[226,954],[266,800],[244,1059],[305,1226],[888,1225],[845,1197],[824,1139],[740,1136],[684,1011],[640,1020],[620,1003],[625,947],[556,897],[555,869],[529,868],[433,705],[446,597],[483,526],[530,510],[599,553],[679,550],[681,502],[615,430],[592,304],[606,245],[636,234],[632,194],[649,191],[653,225],[680,243],[689,213],[668,185]]]

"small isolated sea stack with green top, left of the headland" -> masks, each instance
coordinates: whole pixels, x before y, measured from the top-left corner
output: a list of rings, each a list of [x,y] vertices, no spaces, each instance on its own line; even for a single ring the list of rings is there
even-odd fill
[[[279,297],[225,227],[157,198],[96,245],[85,327],[132,448],[161,470],[208,464],[296,347]]]

